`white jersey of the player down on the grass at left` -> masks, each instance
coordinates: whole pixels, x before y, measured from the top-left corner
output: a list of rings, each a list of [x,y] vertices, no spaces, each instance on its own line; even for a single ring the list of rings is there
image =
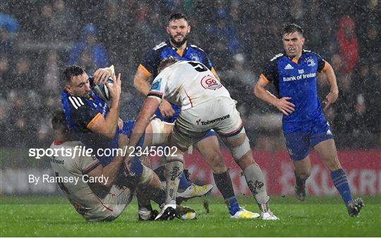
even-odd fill
[[[112,214],[115,195],[108,193],[103,198],[98,197],[87,182],[84,182],[83,175],[87,175],[100,162],[96,158],[92,158],[92,156],[79,156],[78,151],[75,151],[74,157],[69,156],[70,153],[68,152],[73,153],[75,146],[77,148],[79,146],[84,147],[80,141],[66,141],[58,145],[53,142],[50,148],[53,150],[63,148],[65,150],[64,155],[61,151],[58,151],[57,156],[50,159],[53,174],[56,180],[57,178],[63,180],[63,182],[58,182],[58,185],[73,204],[75,210],[87,221],[100,221]],[[76,177],[78,182],[68,182],[73,177]],[[85,181],[87,180],[88,178],[85,178]]]

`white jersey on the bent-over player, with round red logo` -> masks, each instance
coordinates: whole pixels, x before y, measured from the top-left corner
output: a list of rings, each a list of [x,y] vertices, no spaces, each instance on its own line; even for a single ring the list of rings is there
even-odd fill
[[[229,91],[200,62],[180,61],[168,66],[152,81],[147,97],[181,105],[186,110],[216,97],[230,98]]]

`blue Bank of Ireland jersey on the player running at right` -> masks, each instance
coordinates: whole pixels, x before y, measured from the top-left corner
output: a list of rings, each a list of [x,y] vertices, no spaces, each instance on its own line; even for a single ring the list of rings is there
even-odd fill
[[[283,115],[284,132],[294,131],[293,123],[324,119],[322,107],[317,97],[316,74],[325,68],[325,60],[320,55],[303,50],[299,59],[291,59],[286,54],[278,54],[265,67],[261,78],[272,82],[279,98],[291,97],[295,105],[291,115]]]

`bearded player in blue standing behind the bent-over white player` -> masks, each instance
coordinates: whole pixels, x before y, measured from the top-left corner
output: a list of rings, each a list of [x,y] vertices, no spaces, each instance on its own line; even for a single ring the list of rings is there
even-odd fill
[[[174,13],[169,17],[167,25],[167,33],[169,40],[159,43],[156,47],[147,52],[145,59],[138,66],[135,78],[133,80],[135,88],[147,95],[150,91],[150,82],[148,79],[152,76],[152,79],[157,76],[157,68],[163,59],[168,57],[175,57],[180,60],[201,62],[207,66],[213,75],[219,81],[219,77],[214,71],[212,61],[207,54],[199,47],[191,44],[188,41],[188,34],[191,32],[191,25],[188,23],[188,19],[182,13]],[[165,122],[174,123],[179,113],[181,106],[174,103],[169,103],[163,99],[159,109],[155,112],[156,117],[162,119]],[[213,172],[214,182],[216,183],[219,191],[222,193],[226,204],[229,208],[229,213],[234,217],[252,217],[254,214],[245,213],[242,214],[241,207],[238,204],[238,200],[234,194],[234,188],[232,186],[231,177],[222,160],[222,153],[219,151],[219,142],[217,136],[213,130],[210,130],[202,136],[199,141],[194,144],[195,148],[198,148],[201,155],[210,164]],[[161,167],[163,168],[163,167]],[[155,170],[156,171],[156,170]],[[191,184],[185,179],[184,173],[181,175],[179,183],[179,192],[177,197],[183,197],[183,194],[191,192],[204,192],[206,190],[212,190],[212,185],[205,185],[199,187]]]

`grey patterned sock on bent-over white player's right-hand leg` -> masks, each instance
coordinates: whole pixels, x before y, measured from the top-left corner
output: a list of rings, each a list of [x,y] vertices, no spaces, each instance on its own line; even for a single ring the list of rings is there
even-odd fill
[[[243,174],[245,175],[250,191],[253,193],[253,196],[260,207],[260,211],[269,211],[268,201],[270,197],[267,195],[266,191],[265,176],[263,176],[262,170],[260,170],[258,164],[254,163],[248,166],[243,171]]]

